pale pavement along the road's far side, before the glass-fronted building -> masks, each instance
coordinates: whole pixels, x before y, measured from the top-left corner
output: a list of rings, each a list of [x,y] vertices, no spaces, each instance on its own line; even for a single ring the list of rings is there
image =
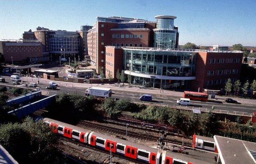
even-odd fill
[[[38,79],[35,77],[21,77],[21,79],[24,81],[29,81],[29,82],[37,82]],[[39,82],[41,84],[49,84],[49,82],[52,80],[46,80],[46,79],[39,79]],[[166,95],[166,96],[176,96],[176,97],[183,97],[183,92],[178,92],[178,91],[170,91],[170,90],[165,90],[165,89],[158,89],[158,88],[145,88],[141,86],[134,86],[131,85],[130,87],[128,86],[127,83],[122,83],[120,84],[85,84],[85,83],[73,83],[73,82],[60,82],[60,81],[55,81],[59,86],[63,87],[75,87],[75,88],[89,88],[91,86],[93,87],[103,87],[103,88],[111,88],[114,91],[131,91],[131,92],[137,92],[137,93],[148,93],[148,94],[159,94],[159,95]],[[225,96],[217,96],[215,99],[210,99],[210,100],[224,100],[224,98],[228,98]],[[232,98],[234,100],[237,100],[239,103],[242,104],[250,104],[250,105],[256,105],[256,100],[251,100],[251,99],[245,99],[245,98]]]

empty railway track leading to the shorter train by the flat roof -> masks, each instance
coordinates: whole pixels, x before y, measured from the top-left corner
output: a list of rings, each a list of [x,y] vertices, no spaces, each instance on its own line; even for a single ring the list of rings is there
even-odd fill
[[[125,139],[125,136],[126,136],[126,130],[110,127],[107,125],[101,125],[101,124],[93,123],[90,121],[80,121],[80,122],[78,122],[77,126],[80,126],[82,128],[87,128],[90,130],[99,130],[100,132],[107,132],[110,134],[119,134],[122,136],[122,139]],[[133,131],[127,131],[127,136],[138,138],[138,139],[144,139],[146,141],[156,141],[156,142],[159,141],[159,137],[160,137],[160,136],[155,136],[155,135],[151,135],[151,134],[143,135],[141,133],[137,133],[137,132],[133,132]],[[176,139],[162,139],[162,142],[167,142],[167,143],[176,144],[176,145],[183,144],[183,146],[192,148],[192,144],[186,143],[186,142],[183,143],[182,141],[179,141]]]

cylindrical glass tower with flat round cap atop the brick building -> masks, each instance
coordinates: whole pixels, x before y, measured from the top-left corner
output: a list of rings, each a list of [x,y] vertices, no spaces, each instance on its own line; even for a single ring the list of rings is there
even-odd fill
[[[155,16],[156,28],[154,29],[154,47],[175,48],[176,33],[174,19],[176,16]]]

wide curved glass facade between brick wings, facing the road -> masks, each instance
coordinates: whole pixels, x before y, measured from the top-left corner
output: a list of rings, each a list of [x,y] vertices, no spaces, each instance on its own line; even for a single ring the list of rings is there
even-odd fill
[[[159,88],[160,85],[162,88],[186,87],[186,77],[195,76],[196,52],[124,49],[123,53],[124,69],[137,73],[133,76],[134,84]]]

